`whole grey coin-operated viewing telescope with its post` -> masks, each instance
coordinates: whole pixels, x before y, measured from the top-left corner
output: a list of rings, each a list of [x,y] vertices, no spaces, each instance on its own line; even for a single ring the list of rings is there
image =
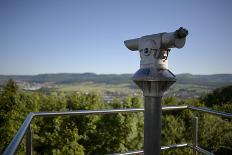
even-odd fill
[[[140,69],[133,81],[143,91],[144,154],[159,155],[161,141],[161,100],[164,92],[176,81],[168,70],[170,48],[182,48],[188,31],[180,27],[175,32],[159,33],[124,41],[126,47],[140,52]]]

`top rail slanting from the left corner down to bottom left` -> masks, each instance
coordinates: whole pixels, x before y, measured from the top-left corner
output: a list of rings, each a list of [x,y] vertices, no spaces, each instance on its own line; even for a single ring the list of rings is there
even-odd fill
[[[19,144],[21,143],[27,128],[30,126],[31,120],[33,119],[33,113],[29,113],[21,127],[19,128],[18,132],[8,145],[8,147],[5,149],[3,155],[13,155],[18,149]]]

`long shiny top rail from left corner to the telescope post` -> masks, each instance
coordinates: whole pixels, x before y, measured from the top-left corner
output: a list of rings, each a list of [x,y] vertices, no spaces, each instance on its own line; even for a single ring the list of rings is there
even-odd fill
[[[128,113],[128,112],[143,112],[143,108],[131,109],[107,109],[107,110],[78,110],[78,111],[58,111],[58,112],[35,112],[34,115],[42,117],[54,116],[76,116],[76,115],[97,115],[97,114],[113,114],[113,113]]]

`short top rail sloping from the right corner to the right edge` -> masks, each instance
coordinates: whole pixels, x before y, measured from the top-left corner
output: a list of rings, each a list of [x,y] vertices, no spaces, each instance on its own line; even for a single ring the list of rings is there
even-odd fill
[[[217,115],[217,116],[224,117],[224,118],[232,118],[232,113],[221,112],[221,111],[212,110],[209,108],[188,106],[188,109],[209,113],[209,114]]]

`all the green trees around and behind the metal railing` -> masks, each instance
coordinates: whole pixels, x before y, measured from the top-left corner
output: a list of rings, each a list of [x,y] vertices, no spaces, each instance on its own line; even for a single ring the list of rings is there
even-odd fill
[[[163,105],[193,105],[232,112],[232,86],[216,89],[201,99],[165,98]],[[127,96],[104,103],[98,93],[42,94],[18,89],[8,80],[0,92],[0,153],[3,153],[29,112],[141,108],[143,99]],[[192,118],[199,117],[199,145],[215,154],[232,152],[232,123],[190,110],[164,113],[162,145],[191,143]],[[36,118],[32,122],[34,154],[107,154],[143,149],[143,114],[112,114]],[[25,140],[19,154],[25,151]],[[174,149],[165,155],[191,154]]]

